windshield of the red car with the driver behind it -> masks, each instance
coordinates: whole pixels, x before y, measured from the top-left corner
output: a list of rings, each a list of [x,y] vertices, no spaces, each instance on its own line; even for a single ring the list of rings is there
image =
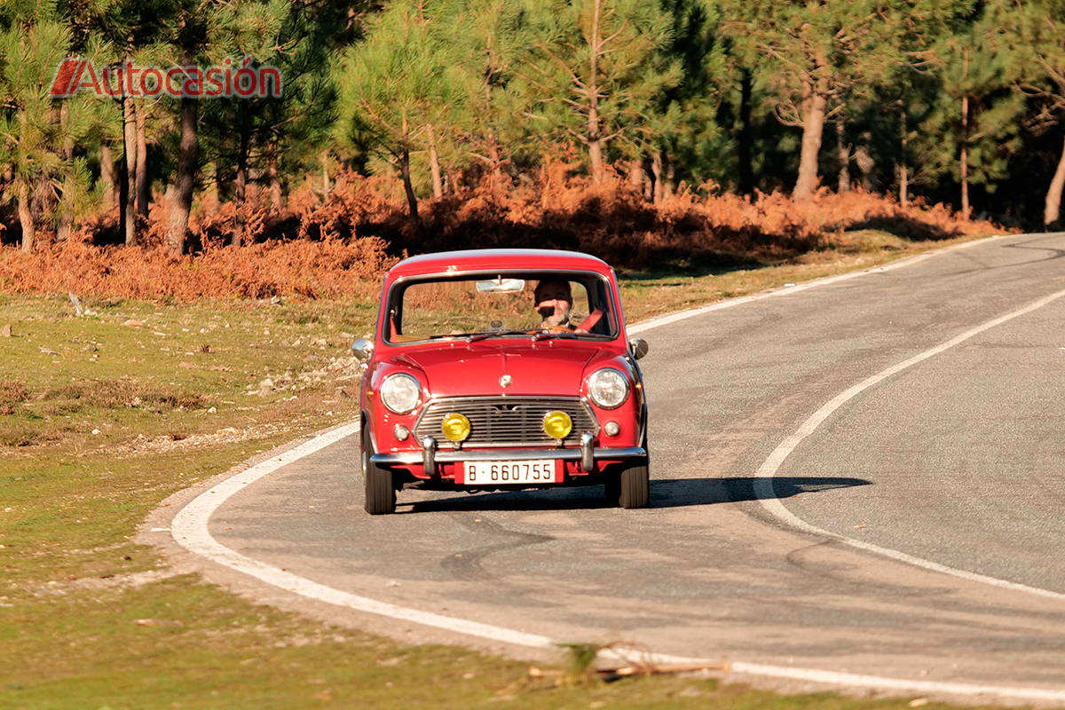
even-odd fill
[[[493,337],[609,340],[618,332],[599,274],[493,273],[428,278],[393,287],[391,343]]]

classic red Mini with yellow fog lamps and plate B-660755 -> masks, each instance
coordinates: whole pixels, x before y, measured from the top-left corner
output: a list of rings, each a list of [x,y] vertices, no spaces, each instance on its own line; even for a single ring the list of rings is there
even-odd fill
[[[613,269],[573,251],[407,259],[384,277],[362,375],[365,509],[396,491],[603,485],[648,505],[648,408]]]

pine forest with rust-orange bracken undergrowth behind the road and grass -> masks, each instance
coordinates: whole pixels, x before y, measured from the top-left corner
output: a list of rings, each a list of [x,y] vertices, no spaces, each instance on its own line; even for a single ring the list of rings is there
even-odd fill
[[[1063,185],[1065,0],[0,0],[16,290],[165,262],[215,275],[179,297],[316,295],[465,247],[768,262],[1053,229]]]

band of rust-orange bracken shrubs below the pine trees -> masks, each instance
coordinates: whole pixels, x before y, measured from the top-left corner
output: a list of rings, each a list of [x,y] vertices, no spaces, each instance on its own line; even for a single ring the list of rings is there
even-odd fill
[[[422,218],[406,216],[395,181],[342,171],[323,198],[308,179],[272,214],[253,195],[245,204],[201,205],[190,222],[195,253],[162,243],[165,208],[152,204],[144,243],[105,246],[114,215],[84,225],[77,238],[36,252],[0,249],[0,288],[72,291],[95,296],[264,298],[376,296],[381,271],[407,252],[457,248],[574,249],[627,268],[698,263],[774,263],[815,249],[846,247],[845,232],[878,229],[912,240],[989,232],[943,205],[900,205],[861,191],[822,189],[797,203],[785,195],[746,198],[682,188],[660,204],[620,181],[592,184],[574,166],[547,164],[538,183],[506,192],[487,186],[429,201]],[[236,234],[244,246],[226,246]],[[46,242],[46,240],[43,240]]]

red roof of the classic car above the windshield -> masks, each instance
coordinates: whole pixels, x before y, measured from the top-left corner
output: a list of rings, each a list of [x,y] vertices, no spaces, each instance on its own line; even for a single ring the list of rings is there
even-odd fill
[[[469,249],[439,251],[405,259],[391,269],[388,279],[428,276],[448,271],[481,271],[492,269],[581,270],[609,275],[609,264],[579,251],[562,249]]]

